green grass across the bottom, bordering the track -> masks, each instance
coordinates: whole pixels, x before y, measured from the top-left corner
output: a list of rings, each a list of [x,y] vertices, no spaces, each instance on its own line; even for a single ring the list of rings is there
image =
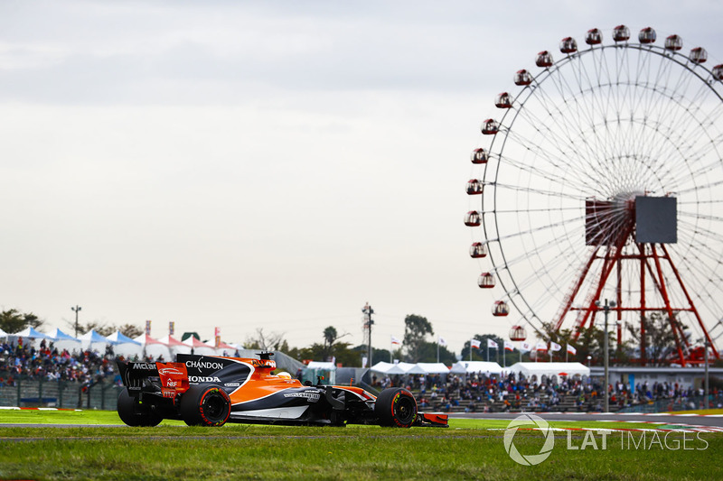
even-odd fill
[[[0,411],[0,423],[119,422],[115,412],[25,413]],[[627,449],[621,443],[625,436],[637,442],[642,433],[618,431],[608,436],[606,450],[568,450],[567,432],[557,431],[549,458],[525,467],[505,452],[502,436],[509,421],[504,420],[452,420],[450,429],[410,430],[242,424],[206,429],[167,422],[156,428],[0,428],[0,479],[723,479],[721,434],[700,434],[707,449],[700,449],[705,445],[694,433],[687,434],[689,450]],[[570,431],[570,442],[579,448],[585,436]],[[536,454],[541,433],[519,430],[514,443],[521,453]]]

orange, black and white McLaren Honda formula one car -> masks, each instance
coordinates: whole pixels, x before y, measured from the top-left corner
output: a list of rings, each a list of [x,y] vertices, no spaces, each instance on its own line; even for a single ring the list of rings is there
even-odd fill
[[[271,375],[273,353],[259,359],[179,354],[175,363],[118,361],[126,386],[117,411],[129,426],[155,426],[164,419],[190,426],[226,421],[344,426],[447,426],[446,414],[420,413],[406,389],[374,397],[360,387],[304,385],[291,375]]]

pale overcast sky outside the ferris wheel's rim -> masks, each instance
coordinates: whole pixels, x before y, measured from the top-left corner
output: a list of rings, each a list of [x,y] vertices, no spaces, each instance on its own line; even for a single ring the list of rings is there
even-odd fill
[[[512,74],[619,23],[723,54],[717,1],[0,3],[0,308],[152,335],[427,317],[506,338],[465,181]],[[690,41],[689,41],[690,39]]]

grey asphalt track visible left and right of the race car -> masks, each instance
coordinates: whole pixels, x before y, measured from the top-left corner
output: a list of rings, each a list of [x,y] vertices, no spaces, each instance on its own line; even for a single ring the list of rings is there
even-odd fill
[[[454,413],[453,419],[493,419],[512,421],[522,412],[471,412]],[[708,426],[723,428],[723,414],[640,414],[640,413],[606,413],[606,412],[531,412],[546,421],[629,421],[629,422],[656,422],[671,425]],[[2,428],[76,428],[81,426],[93,428],[118,428],[121,425],[110,424],[9,424],[0,423]]]

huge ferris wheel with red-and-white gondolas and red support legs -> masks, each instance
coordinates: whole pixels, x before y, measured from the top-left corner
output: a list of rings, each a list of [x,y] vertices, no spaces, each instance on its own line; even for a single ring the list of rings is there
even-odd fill
[[[511,72],[472,152],[469,254],[495,316],[577,338],[609,299],[618,342],[658,312],[695,364],[723,331],[723,65],[637,40],[592,29]]]

